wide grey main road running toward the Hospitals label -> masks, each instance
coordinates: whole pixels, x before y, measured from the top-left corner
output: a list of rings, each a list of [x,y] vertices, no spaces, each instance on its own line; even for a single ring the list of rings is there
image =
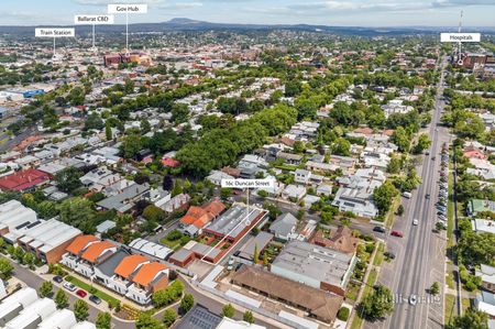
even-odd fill
[[[443,101],[443,69],[447,58],[442,58],[439,70],[440,83],[437,87],[435,110],[427,134],[432,140],[430,155],[425,156],[417,167],[422,184],[414,191],[409,200],[404,200],[405,216],[396,220],[393,230],[402,231],[404,238],[386,237],[387,250],[396,254],[392,263],[384,263],[378,283],[388,286],[394,294],[394,312],[384,321],[366,322],[366,328],[442,328],[443,287],[446,264],[446,233],[436,233],[436,202],[439,193],[440,156],[442,144],[449,141],[449,132],[440,127]],[[438,157],[438,160],[433,160]],[[429,195],[429,197],[427,197]],[[419,221],[413,226],[413,220]],[[440,296],[428,294],[433,282],[439,282]],[[417,304],[409,303],[416,295]]]

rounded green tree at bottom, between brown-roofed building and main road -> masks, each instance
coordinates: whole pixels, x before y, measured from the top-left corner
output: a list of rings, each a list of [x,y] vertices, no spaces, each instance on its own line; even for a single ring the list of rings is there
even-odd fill
[[[369,320],[377,320],[394,310],[391,289],[378,285],[373,293],[366,295],[359,305],[360,312]]]

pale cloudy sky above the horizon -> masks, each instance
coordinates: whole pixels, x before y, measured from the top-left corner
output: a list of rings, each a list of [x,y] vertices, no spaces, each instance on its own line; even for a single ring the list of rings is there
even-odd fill
[[[495,0],[0,0],[0,25],[72,24],[108,3],[148,3],[130,23],[188,18],[217,23],[330,26],[495,26]],[[124,23],[117,15],[116,23]]]

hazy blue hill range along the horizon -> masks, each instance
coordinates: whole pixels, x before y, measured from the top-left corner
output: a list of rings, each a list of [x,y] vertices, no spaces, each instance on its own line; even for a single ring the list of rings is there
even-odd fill
[[[51,25],[53,26],[53,25]],[[70,26],[70,25],[65,25]],[[18,34],[18,35],[34,35],[34,28],[36,26],[0,26],[0,33]],[[62,26],[61,26],[62,28]],[[76,25],[76,33],[88,33],[91,30],[90,25]],[[186,18],[176,18],[162,23],[135,23],[130,24],[130,31],[136,32],[169,32],[169,31],[271,31],[271,30],[289,30],[289,31],[312,31],[321,33],[334,33],[342,35],[404,35],[404,34],[432,34],[443,32],[455,32],[457,28],[429,28],[429,26],[404,26],[404,28],[360,28],[360,26],[327,26],[327,25],[310,25],[310,24],[235,24],[235,23],[211,23],[205,21],[190,20]],[[465,28],[465,32],[473,32],[475,30]],[[472,31],[470,31],[472,30]],[[122,24],[101,25],[98,26],[98,33],[121,33],[123,31]],[[480,28],[476,32],[495,33],[494,28]]]

